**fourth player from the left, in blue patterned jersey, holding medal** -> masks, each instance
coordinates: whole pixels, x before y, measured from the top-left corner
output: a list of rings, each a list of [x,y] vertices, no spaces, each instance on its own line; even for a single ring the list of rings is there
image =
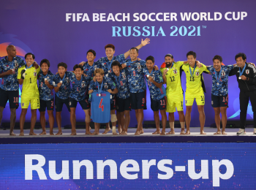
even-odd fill
[[[69,91],[70,91],[70,77],[74,74],[67,72],[67,64],[61,62],[58,64],[58,74],[53,77],[53,86],[55,94],[55,108],[56,108],[56,122],[59,128],[59,132],[56,135],[62,134],[61,132],[61,111],[63,104],[66,104],[67,110],[70,113],[69,107]],[[75,135],[76,132],[72,130],[71,135]]]

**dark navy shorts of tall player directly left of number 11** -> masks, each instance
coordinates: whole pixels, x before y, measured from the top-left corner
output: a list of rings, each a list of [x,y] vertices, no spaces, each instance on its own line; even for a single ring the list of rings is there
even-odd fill
[[[147,109],[146,105],[146,91],[131,93],[132,110]]]

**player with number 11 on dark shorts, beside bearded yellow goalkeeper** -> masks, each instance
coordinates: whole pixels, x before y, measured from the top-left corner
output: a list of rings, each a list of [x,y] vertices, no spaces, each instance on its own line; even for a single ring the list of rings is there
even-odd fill
[[[148,88],[150,91],[151,98],[151,110],[154,111],[154,121],[157,126],[157,131],[153,134],[165,135],[165,126],[167,122],[166,116],[166,93],[165,88],[162,86],[162,74],[159,70],[153,69],[154,67],[154,57],[148,56],[146,58],[146,68],[143,69],[146,75],[146,80],[148,83]],[[160,133],[160,120],[159,120],[159,110],[162,115],[162,132]]]

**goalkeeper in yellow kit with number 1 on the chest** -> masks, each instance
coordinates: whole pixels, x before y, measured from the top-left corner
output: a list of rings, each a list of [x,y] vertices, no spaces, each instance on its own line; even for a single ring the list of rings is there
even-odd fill
[[[20,85],[23,84],[21,93],[20,136],[24,136],[23,126],[29,103],[31,104],[31,126],[29,135],[37,135],[34,133],[34,125],[37,121],[37,109],[39,109],[37,75],[40,72],[40,67],[36,69],[33,66],[34,58],[34,54],[26,53],[26,65],[18,69],[18,82]]]

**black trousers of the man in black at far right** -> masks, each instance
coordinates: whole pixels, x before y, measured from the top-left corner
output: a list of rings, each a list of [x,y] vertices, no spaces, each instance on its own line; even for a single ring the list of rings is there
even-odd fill
[[[240,91],[240,128],[245,129],[247,107],[249,100],[252,104],[254,127],[256,128],[256,91]]]

